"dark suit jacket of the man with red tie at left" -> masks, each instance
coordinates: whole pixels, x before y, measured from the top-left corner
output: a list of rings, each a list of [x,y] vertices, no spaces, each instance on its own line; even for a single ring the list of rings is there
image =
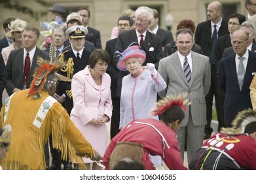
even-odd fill
[[[18,50],[12,50],[10,52],[9,58],[7,60],[7,93],[8,95],[12,94],[14,88],[18,88],[20,90],[24,89],[24,48],[20,48]],[[33,57],[33,62],[30,68],[27,88],[30,87],[30,84],[33,80],[33,74],[35,68],[37,67],[37,58],[41,57],[43,59],[49,60],[49,54],[36,48],[35,55]]]

